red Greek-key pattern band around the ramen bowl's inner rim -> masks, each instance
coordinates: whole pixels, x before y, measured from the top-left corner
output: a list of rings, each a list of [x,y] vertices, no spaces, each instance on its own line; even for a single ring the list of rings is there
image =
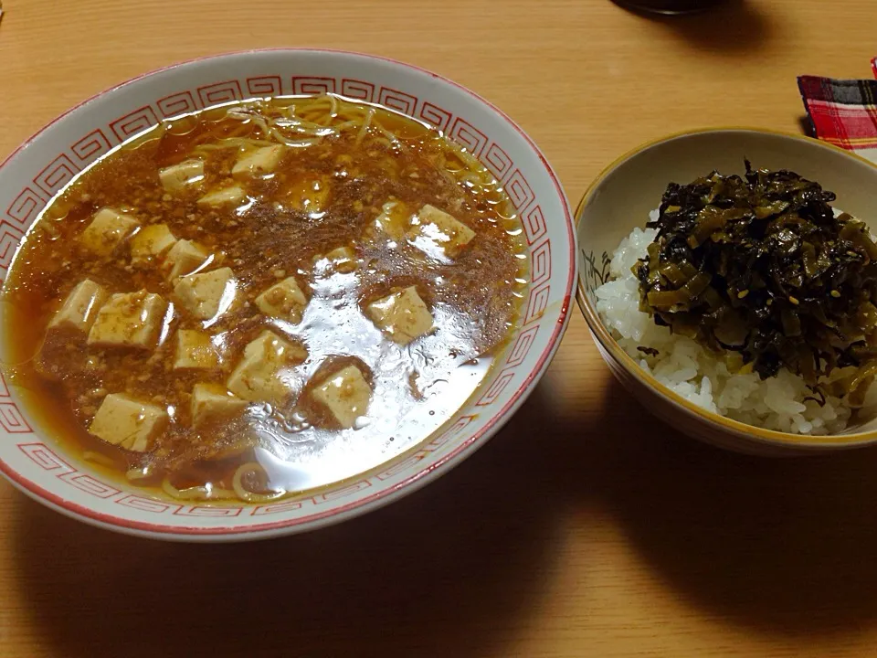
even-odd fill
[[[346,77],[327,78],[323,76],[295,76],[288,78],[276,74],[275,71],[264,70],[258,73],[253,71],[250,77],[241,77],[239,80],[224,80],[202,86],[193,85],[190,89],[171,89],[174,93],[156,98],[153,102],[143,103],[141,101],[134,105],[136,109],[126,111],[122,116],[107,121],[100,127],[90,126],[89,131],[69,147],[69,152],[76,158],[77,163],[70,160],[67,154],[55,154],[52,158],[47,158],[44,161],[48,162],[48,164],[43,167],[40,175],[34,177],[34,186],[23,185],[18,188],[14,200],[11,201],[6,209],[8,218],[14,222],[15,226],[0,220],[0,224],[3,224],[0,227],[0,253],[3,253],[5,249],[11,257],[14,247],[21,239],[22,230],[18,227],[21,229],[28,228],[37,218],[40,210],[45,207],[48,196],[57,192],[59,186],[62,186],[64,182],[69,180],[71,175],[79,171],[79,166],[90,164],[95,158],[105,154],[112,147],[111,137],[108,137],[108,135],[114,135],[117,140],[123,141],[136,133],[141,133],[153,127],[153,125],[158,123],[158,116],[173,116],[185,113],[186,111],[197,110],[198,101],[203,106],[210,106],[221,102],[240,100],[242,98],[241,89],[248,90],[250,96],[276,95],[282,92],[282,80],[291,80],[292,90],[295,93],[321,93],[325,90],[340,90],[340,93],[344,96],[368,102],[377,101],[390,109],[401,111],[409,116],[414,116],[428,122],[440,130],[447,130],[449,125],[452,126],[449,131],[451,139],[466,147],[471,153],[481,157],[482,162],[490,168],[497,179],[505,184],[512,203],[523,219],[523,228],[528,242],[532,244],[548,232],[542,208],[540,206],[530,207],[535,198],[533,188],[526,180],[523,172],[515,167],[512,158],[507,154],[506,150],[498,143],[493,143],[488,137],[489,133],[485,133],[480,127],[473,125],[471,122],[464,121],[460,117],[455,117],[454,113],[447,108],[439,107],[436,104],[435,97],[431,97],[429,100],[421,100],[416,95],[407,93],[407,91],[394,87],[375,85],[375,83],[368,80]],[[203,81],[209,80],[199,80],[199,82]],[[376,98],[375,89],[378,90]],[[165,93],[166,91],[167,89],[165,89]],[[418,105],[420,106],[419,112],[417,112]],[[131,105],[128,107],[131,107]],[[557,186],[557,189],[559,190],[559,186]],[[534,320],[544,313],[550,299],[550,286],[548,283],[551,279],[550,254],[550,241],[548,239],[541,242],[531,253],[531,273],[534,281],[537,284],[541,281],[545,282],[541,286],[531,286],[523,318],[523,324],[525,325],[533,323]],[[4,256],[0,255],[0,264],[5,264],[3,258]],[[44,472],[51,472],[56,476],[55,480],[65,483],[70,489],[86,493],[93,498],[107,499],[114,506],[129,508],[137,513],[161,515],[165,518],[164,523],[167,524],[171,523],[169,517],[174,516],[199,517],[204,518],[205,522],[208,522],[211,518],[217,518],[218,522],[224,517],[271,516],[298,512],[301,512],[301,514],[296,514],[296,521],[294,523],[305,523],[310,519],[316,519],[326,514],[335,514],[337,510],[343,509],[343,506],[339,507],[337,504],[339,500],[354,497],[354,499],[360,501],[356,504],[361,504],[364,501],[377,497],[380,492],[373,494],[368,492],[371,489],[386,487],[386,484],[381,484],[386,481],[404,478],[407,476],[407,473],[412,473],[412,476],[416,474],[416,477],[419,478],[428,472],[423,470],[425,468],[423,465],[425,460],[437,463],[436,459],[449,459],[451,456],[459,453],[465,445],[455,445],[454,440],[458,439],[463,432],[466,432],[470,425],[477,421],[483,423],[484,417],[488,414],[496,414],[496,417],[501,415],[502,411],[500,409],[489,410],[488,408],[501,400],[503,391],[510,386],[519,374],[519,366],[523,364],[531,352],[539,328],[538,324],[524,326],[516,336],[514,343],[507,352],[502,372],[495,376],[478,400],[478,414],[461,415],[454,419],[445,430],[423,444],[416,453],[395,462],[390,462],[382,471],[372,476],[364,477],[359,482],[344,485],[339,489],[323,492],[318,495],[312,494],[310,498],[284,500],[275,504],[244,506],[176,504],[168,500],[149,497],[148,493],[138,495],[124,492],[109,483],[101,482],[99,476],[96,476],[93,472],[80,471],[79,468],[65,461],[55,450],[41,441],[35,442],[28,437],[28,441],[16,445],[27,456],[29,462],[36,464]],[[556,335],[556,329],[553,335]],[[544,356],[542,358],[544,359]],[[526,372],[523,372],[523,375],[526,375]],[[521,390],[523,390],[525,382],[516,386],[521,386]],[[33,430],[24,414],[18,409],[16,403],[9,399],[9,391],[5,387],[2,377],[0,377],[0,398],[9,400],[0,402],[0,426],[9,434],[31,434],[32,436]],[[492,422],[493,419],[490,419],[485,427],[490,427]],[[471,440],[475,440],[478,436],[478,434],[474,435]],[[437,458],[434,455],[447,456]],[[3,461],[0,460],[0,466],[2,465]],[[431,470],[432,466],[427,468]],[[5,472],[8,473],[9,471],[5,469]],[[25,485],[26,482],[25,480]],[[380,487],[378,486],[379,484]],[[27,486],[27,488],[29,489],[30,487]],[[40,493],[39,495],[49,498],[55,496],[58,504],[68,506],[64,499],[58,498],[55,493]],[[307,508],[312,508],[314,512],[306,512]],[[335,512],[317,513],[316,510],[321,508],[332,508]],[[90,516],[83,512],[81,506],[79,506],[77,512],[79,515]],[[88,512],[88,510],[85,510],[85,512]],[[98,517],[91,517],[100,518],[100,515]],[[114,526],[137,527],[136,523],[128,520],[127,517],[110,515],[104,520]],[[284,526],[292,525],[289,521],[281,523]],[[155,526],[146,524],[141,527],[146,531],[168,528],[167,531],[178,534],[191,534],[195,532],[191,525]],[[242,530],[249,530],[259,529],[262,526],[249,524],[239,527]],[[198,530],[195,534],[200,534],[201,532],[209,532],[209,530]],[[223,529],[217,532],[225,533],[227,530]]]

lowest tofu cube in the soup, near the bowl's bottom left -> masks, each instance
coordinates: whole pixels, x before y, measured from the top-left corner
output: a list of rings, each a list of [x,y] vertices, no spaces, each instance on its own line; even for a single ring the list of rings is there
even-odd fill
[[[145,452],[164,430],[167,420],[167,411],[161,407],[111,393],[100,403],[89,431],[125,450]]]

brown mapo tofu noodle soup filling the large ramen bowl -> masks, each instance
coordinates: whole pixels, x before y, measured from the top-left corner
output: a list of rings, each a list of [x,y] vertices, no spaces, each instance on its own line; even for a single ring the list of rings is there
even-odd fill
[[[337,97],[167,122],[79,176],[5,283],[13,381],[90,462],[272,500],[428,438],[517,322],[520,225],[440,133]]]

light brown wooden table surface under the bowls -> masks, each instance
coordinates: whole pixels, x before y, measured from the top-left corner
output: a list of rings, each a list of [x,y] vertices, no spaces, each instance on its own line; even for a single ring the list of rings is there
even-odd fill
[[[873,0],[751,0],[672,20],[608,0],[4,5],[0,156],[149,69],[345,48],[495,102],[574,203],[663,133],[798,131],[796,75],[866,77],[877,55]],[[0,483],[0,655],[877,655],[875,474],[875,451],[766,461],[676,436],[609,376],[574,310],[510,427],[439,482],[318,533],[151,542]]]

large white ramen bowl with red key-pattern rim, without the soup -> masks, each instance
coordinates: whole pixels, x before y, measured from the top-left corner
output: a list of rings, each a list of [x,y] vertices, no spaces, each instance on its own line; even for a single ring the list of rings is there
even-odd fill
[[[256,50],[197,59],[104,91],[51,122],[0,165],[0,277],[27,229],[80,170],[163,119],[227,101],[338,93],[429,123],[496,175],[523,223],[530,281],[522,320],[490,377],[427,440],[343,483],[273,504],[186,504],[109,480],[32,418],[0,379],[0,472],[66,515],[132,535],[230,541],[287,535],[360,515],[460,463],[511,418],[542,377],[568,320],[576,274],[569,207],[533,141],[470,90],[389,59]]]

